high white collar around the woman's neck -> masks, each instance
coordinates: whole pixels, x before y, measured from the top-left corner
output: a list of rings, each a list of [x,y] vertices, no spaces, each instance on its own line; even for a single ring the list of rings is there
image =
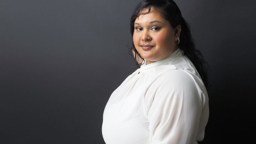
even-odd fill
[[[147,65],[146,65],[147,61],[146,61],[146,59],[144,59],[144,63],[140,66],[140,68],[138,70],[142,71],[145,69],[150,69],[150,68],[153,68],[156,66],[163,65],[163,64],[169,62],[170,60],[172,60],[173,58],[175,58],[176,56],[180,55],[181,53],[183,53],[182,50],[180,48],[178,48],[176,51],[171,53],[168,57],[161,59],[159,61],[156,61],[154,63],[147,64]]]

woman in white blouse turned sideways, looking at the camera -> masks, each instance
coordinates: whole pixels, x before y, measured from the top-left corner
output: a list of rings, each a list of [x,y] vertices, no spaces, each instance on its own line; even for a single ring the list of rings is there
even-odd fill
[[[209,116],[206,71],[178,6],[144,0],[130,27],[140,68],[108,100],[102,124],[106,144],[202,141]]]

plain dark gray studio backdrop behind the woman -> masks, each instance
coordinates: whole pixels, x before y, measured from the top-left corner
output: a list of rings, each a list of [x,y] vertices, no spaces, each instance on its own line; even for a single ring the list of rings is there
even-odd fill
[[[126,45],[138,3],[0,1],[0,143],[104,143],[105,105],[135,66]],[[176,3],[210,65],[201,143],[255,142],[255,2]]]

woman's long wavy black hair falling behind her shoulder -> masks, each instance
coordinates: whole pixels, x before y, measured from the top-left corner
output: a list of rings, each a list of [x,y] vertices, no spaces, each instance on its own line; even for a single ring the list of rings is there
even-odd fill
[[[152,7],[157,8],[161,13],[161,16],[165,18],[174,29],[178,25],[181,25],[182,31],[180,33],[180,43],[178,44],[179,48],[183,50],[184,55],[192,61],[203,80],[204,86],[207,88],[208,78],[205,64],[208,65],[208,63],[204,61],[202,53],[195,48],[194,40],[190,33],[190,26],[181,16],[181,11],[173,0],[142,0],[133,11],[130,19],[130,32],[132,36],[134,33],[134,22],[136,18],[141,14],[149,13]],[[141,13],[144,8],[148,8],[147,13]],[[136,50],[133,41],[131,51],[135,52],[136,65],[139,67],[143,62],[139,63],[138,58],[140,57],[142,60],[143,58]]]

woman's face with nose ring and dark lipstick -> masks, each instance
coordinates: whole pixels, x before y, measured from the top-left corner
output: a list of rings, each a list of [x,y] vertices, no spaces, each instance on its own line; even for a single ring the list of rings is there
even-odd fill
[[[147,11],[148,8],[145,8],[142,13]],[[148,14],[141,14],[134,22],[134,46],[147,60],[147,64],[159,61],[178,48],[175,41],[178,41],[180,29],[180,25],[173,29],[160,12],[152,7]],[[152,47],[143,46],[147,44]]]

